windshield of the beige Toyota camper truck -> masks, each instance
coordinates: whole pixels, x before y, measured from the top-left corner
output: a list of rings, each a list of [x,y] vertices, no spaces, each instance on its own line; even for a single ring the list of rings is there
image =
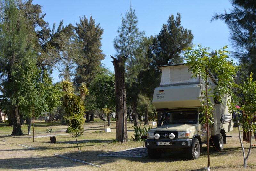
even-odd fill
[[[168,112],[164,124],[197,124],[197,111]]]

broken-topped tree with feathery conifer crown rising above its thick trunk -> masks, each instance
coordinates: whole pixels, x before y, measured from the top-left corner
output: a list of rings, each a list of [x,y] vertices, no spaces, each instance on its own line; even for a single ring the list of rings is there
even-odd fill
[[[116,49],[113,65],[115,70],[115,88],[116,88],[116,140],[125,142],[128,140],[126,126],[126,90],[125,90],[125,63],[128,58],[136,55],[141,49],[141,42],[144,32],[140,32],[138,27],[135,10],[130,6],[129,11],[122,16],[122,25],[118,29],[118,36],[114,39]]]

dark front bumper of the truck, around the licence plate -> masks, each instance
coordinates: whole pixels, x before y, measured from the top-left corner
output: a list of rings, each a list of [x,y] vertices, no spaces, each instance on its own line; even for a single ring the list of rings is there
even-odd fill
[[[171,142],[171,145],[157,145],[157,142]],[[182,143],[185,142],[185,145]],[[149,145],[147,145],[149,143]],[[192,143],[192,139],[147,139],[145,140],[145,146],[148,148],[187,148],[190,147]],[[183,143],[184,144],[184,143]]]

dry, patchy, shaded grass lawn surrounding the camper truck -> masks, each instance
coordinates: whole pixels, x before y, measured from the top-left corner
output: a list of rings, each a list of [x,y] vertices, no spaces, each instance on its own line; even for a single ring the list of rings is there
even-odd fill
[[[44,133],[46,128],[53,128],[54,133],[48,134]],[[53,163],[55,169],[57,168],[65,168],[70,167],[72,170],[79,170],[78,167],[84,168],[84,170],[204,170],[204,167],[207,166],[207,153],[206,153],[206,145],[203,145],[203,153],[201,154],[199,159],[196,160],[187,160],[185,159],[185,154],[182,152],[173,152],[166,153],[162,155],[160,159],[149,159],[146,158],[124,158],[124,157],[103,157],[97,156],[97,154],[102,154],[106,152],[116,152],[120,150],[125,150],[134,147],[142,146],[142,142],[133,142],[132,140],[126,143],[118,143],[114,141],[116,137],[116,123],[114,121],[111,122],[111,126],[106,126],[106,128],[111,128],[111,133],[104,133],[103,131],[104,122],[95,121],[91,123],[84,124],[84,135],[79,138],[79,140],[91,140],[89,142],[80,143],[79,145],[82,148],[82,153],[78,153],[76,144],[65,144],[65,143],[55,143],[50,144],[49,137],[44,138],[36,138],[35,143],[33,143],[33,139],[31,138],[22,138],[28,137],[28,135],[24,136],[6,136],[10,135],[12,132],[12,127],[6,126],[6,124],[0,124],[0,140],[5,140],[6,142],[1,142],[0,145],[6,144],[8,145],[9,150],[1,150],[2,153],[12,153],[12,156],[5,157],[4,159],[0,156],[1,169],[18,169],[14,167],[11,162],[7,162],[11,159],[15,161],[17,157],[15,153],[20,149],[22,152],[28,153],[31,158],[36,158],[36,156],[45,156],[45,159],[49,163]],[[133,124],[127,123],[127,129],[133,130]],[[60,123],[56,122],[48,122],[48,123],[36,123],[35,124],[35,136],[43,136],[43,135],[56,135],[56,134],[64,134],[56,136],[57,142],[62,141],[74,141],[71,135],[66,134],[67,126],[60,125]],[[22,126],[22,130],[24,133],[27,133],[27,127]],[[31,130],[32,132],[32,130]],[[133,136],[132,131],[128,131],[129,138]],[[227,133],[227,135],[231,135],[232,138],[227,138],[227,144],[224,144],[224,150],[222,152],[216,152],[213,150],[213,147],[210,147],[211,150],[211,170],[241,170],[243,169],[243,156],[242,150],[239,143],[238,138],[238,130],[234,128],[234,131]],[[31,135],[30,135],[31,136]],[[252,140],[253,144],[256,144],[255,140]],[[35,148],[36,150],[27,150],[23,147],[17,146],[17,144],[22,144],[26,146],[30,146]],[[249,143],[244,143],[246,148],[246,152],[248,151]],[[1,146],[0,146],[1,147]],[[18,148],[18,149],[15,149]],[[68,156],[71,158],[84,160],[96,165],[100,165],[101,167],[92,167],[84,164],[79,164],[73,161],[68,161],[67,159],[59,159],[54,157],[54,154],[62,154],[64,156]],[[23,161],[23,160],[22,160]],[[60,162],[63,161],[63,162]],[[248,159],[248,167],[246,170],[256,170],[256,147],[252,148],[251,155]],[[31,165],[31,167],[24,167],[29,169],[44,169],[50,170],[51,166],[42,166],[42,167],[32,167],[35,165],[33,160],[31,163],[27,163]]]

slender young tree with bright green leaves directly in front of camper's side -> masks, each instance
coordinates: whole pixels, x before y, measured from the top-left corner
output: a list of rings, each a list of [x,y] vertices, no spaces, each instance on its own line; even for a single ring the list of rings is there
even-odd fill
[[[199,99],[203,106],[200,114],[203,115],[201,124],[205,124],[207,130],[208,170],[210,170],[209,127],[213,124],[213,111],[216,103],[221,102],[222,98],[230,94],[229,85],[234,82],[233,75],[236,71],[226,48],[227,46],[215,50],[215,53],[209,53],[210,48],[202,48],[198,45],[198,49],[195,50],[187,48],[184,54],[192,77],[198,78],[200,82],[201,96]],[[217,75],[216,87],[210,85],[211,73]]]

